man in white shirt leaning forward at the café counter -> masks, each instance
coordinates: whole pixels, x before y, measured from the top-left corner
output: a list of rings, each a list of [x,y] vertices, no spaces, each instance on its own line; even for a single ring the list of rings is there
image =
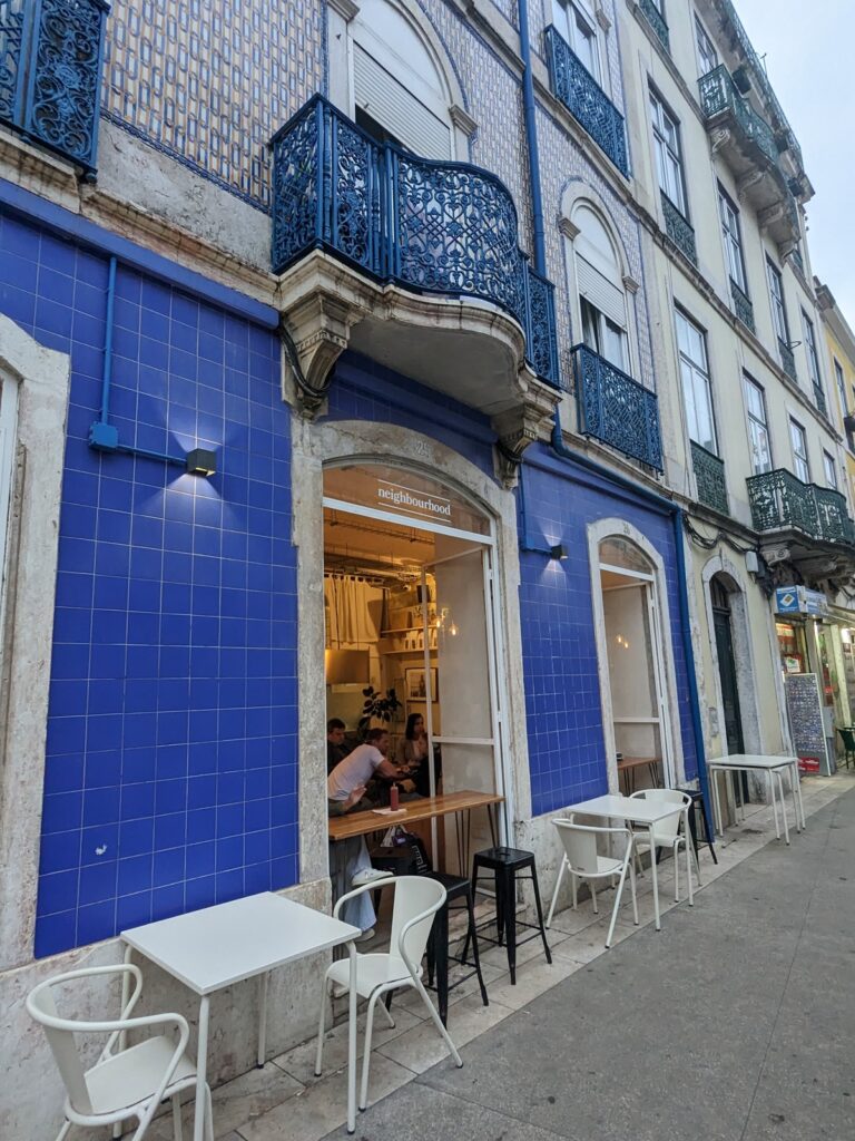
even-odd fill
[[[389,733],[386,729],[369,729],[364,745],[358,745],[343,761],[340,761],[327,777],[326,795],[329,816],[342,816],[358,809],[370,807],[363,801],[365,786],[376,774],[388,779],[400,776],[400,769],[386,760]],[[350,840],[329,841],[329,875],[333,881],[333,900],[341,899],[357,882],[366,882],[372,871],[372,861],[364,836],[352,836]],[[377,879],[384,879],[377,873]],[[363,932],[363,938],[374,934],[376,915],[366,891],[351,899],[341,916],[345,923],[352,923]]]

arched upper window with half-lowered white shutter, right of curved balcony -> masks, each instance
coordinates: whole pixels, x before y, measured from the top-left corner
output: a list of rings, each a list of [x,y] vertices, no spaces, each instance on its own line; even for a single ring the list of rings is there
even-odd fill
[[[573,211],[573,241],[581,339],[619,369],[629,371],[626,297],[611,236],[591,207]]]

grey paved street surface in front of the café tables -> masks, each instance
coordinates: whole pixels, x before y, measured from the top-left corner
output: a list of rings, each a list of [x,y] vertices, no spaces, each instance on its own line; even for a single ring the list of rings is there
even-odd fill
[[[443,1061],[369,1107],[357,1138],[855,1136],[855,791],[790,848],[767,844],[698,906],[670,911],[660,933],[589,962],[463,1058],[462,1070]]]

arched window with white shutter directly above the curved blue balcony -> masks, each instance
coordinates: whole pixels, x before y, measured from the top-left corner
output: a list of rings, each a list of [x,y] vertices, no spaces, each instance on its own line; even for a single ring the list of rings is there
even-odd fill
[[[425,159],[451,159],[451,98],[433,52],[388,0],[361,0],[352,24],[357,123]]]

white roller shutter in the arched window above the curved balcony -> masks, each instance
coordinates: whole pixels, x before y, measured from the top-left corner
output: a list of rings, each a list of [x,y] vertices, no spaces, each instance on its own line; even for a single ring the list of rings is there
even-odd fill
[[[423,159],[450,159],[448,127],[358,43],[353,44],[356,105]]]

